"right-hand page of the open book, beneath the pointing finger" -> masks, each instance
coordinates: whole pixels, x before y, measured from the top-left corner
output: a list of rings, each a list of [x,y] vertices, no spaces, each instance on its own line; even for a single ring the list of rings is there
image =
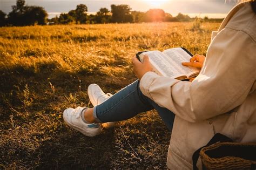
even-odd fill
[[[191,56],[184,51],[182,48],[174,48],[174,49],[168,49],[163,51],[165,55],[167,55],[171,60],[173,61],[173,64],[178,67],[178,70],[180,73],[185,74],[187,77],[190,77],[194,73],[199,73],[200,70],[193,68],[193,67],[187,67],[183,66],[182,62],[190,62]]]

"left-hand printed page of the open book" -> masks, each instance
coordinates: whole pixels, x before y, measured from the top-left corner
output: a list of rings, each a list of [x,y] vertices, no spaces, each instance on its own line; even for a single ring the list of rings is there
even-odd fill
[[[173,61],[170,57],[164,55],[160,51],[148,51],[142,53],[140,59],[143,61],[143,56],[149,56],[151,64],[165,77],[176,78],[180,76],[185,76],[178,70],[178,67],[173,65]]]

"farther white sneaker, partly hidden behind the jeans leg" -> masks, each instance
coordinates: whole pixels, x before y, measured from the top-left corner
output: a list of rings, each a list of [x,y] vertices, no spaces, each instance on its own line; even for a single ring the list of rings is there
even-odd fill
[[[104,93],[97,84],[90,84],[87,92],[93,106],[97,106],[113,96],[111,93]],[[102,124],[104,128],[112,128],[115,125],[116,122],[107,122]]]

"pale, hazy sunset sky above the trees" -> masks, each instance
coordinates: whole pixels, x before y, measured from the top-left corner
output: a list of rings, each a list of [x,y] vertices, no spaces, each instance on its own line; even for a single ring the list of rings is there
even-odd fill
[[[5,13],[11,11],[11,5],[15,5],[16,0],[0,0],[0,10]],[[28,5],[42,6],[49,14],[49,18],[59,15],[61,12],[68,12],[76,9],[77,4],[86,4],[88,11],[97,12],[100,8],[110,9],[111,4],[127,4],[132,10],[147,11],[153,8],[163,9],[173,16],[177,13],[185,13],[191,17],[208,16],[209,18],[224,18],[236,4],[235,0],[26,0]]]

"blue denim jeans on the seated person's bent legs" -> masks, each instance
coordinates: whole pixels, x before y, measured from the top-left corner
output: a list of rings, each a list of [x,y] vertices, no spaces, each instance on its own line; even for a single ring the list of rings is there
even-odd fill
[[[97,105],[93,115],[99,123],[121,121],[134,117],[138,113],[156,109],[167,128],[172,131],[175,114],[160,107],[153,100],[144,96],[139,89],[139,80],[126,86],[112,97]]]

